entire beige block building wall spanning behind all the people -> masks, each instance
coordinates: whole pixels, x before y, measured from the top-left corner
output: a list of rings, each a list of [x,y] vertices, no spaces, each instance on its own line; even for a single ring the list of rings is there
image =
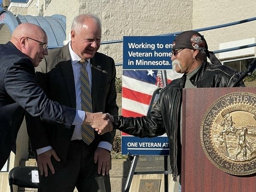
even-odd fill
[[[245,0],[29,0],[11,3],[14,14],[51,16],[67,19],[67,40],[73,18],[93,13],[102,20],[102,41],[122,40],[123,36],[147,36],[199,29],[255,17],[256,1]],[[221,43],[250,40],[255,43],[256,21],[200,32],[209,50],[221,49]],[[231,43],[232,44],[232,43]],[[236,44],[236,43],[235,43]],[[227,47],[226,46],[226,47]],[[231,45],[230,45],[231,46]],[[255,48],[253,48],[255,49]],[[122,63],[122,43],[102,45],[99,50]],[[255,53],[255,50],[254,50]],[[243,53],[244,55],[246,53]],[[251,56],[252,52],[249,54]],[[219,55],[217,54],[217,57]],[[221,57],[221,59],[225,57]]]

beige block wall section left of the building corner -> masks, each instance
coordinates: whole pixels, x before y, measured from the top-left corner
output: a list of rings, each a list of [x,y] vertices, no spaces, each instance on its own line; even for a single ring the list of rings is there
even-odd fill
[[[123,36],[168,34],[192,29],[192,0],[30,0],[22,14],[63,14],[67,19],[67,40],[73,18],[93,13],[102,20],[102,41]],[[19,3],[20,4],[20,3]],[[15,4],[13,4],[15,5]],[[11,4],[12,6],[12,4]],[[38,8],[36,7],[38,6]],[[9,11],[16,14],[17,7]],[[122,63],[122,43],[102,45],[99,52]],[[118,69],[121,75],[122,67]]]

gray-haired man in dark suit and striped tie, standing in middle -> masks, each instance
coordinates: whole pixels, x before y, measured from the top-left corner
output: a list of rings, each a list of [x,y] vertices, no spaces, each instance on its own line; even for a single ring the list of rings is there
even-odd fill
[[[49,98],[81,110],[81,103],[87,98],[81,96],[82,66],[79,61],[87,60],[93,112],[117,115],[116,69],[111,57],[97,52],[101,32],[101,22],[95,15],[75,17],[70,43],[49,50],[49,55],[36,69],[36,77]],[[54,175],[49,173],[47,177],[39,176],[39,192],[73,192],[75,186],[79,192],[111,192],[108,173],[115,132],[95,134],[93,142],[88,145],[81,140],[79,126],[63,130],[58,125],[49,125],[36,119],[28,122],[28,134],[32,149],[37,153],[39,169],[40,166],[53,166],[55,169]],[[40,129],[35,130],[35,126]],[[52,151],[57,153],[60,162],[51,158]]]

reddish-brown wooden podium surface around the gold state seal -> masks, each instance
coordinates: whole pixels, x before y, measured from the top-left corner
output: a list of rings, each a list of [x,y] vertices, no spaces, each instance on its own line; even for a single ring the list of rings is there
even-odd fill
[[[209,160],[201,143],[201,123],[207,109],[232,92],[256,94],[256,88],[183,89],[182,192],[256,191],[255,173],[240,176],[222,171]],[[256,163],[252,166],[256,169]]]

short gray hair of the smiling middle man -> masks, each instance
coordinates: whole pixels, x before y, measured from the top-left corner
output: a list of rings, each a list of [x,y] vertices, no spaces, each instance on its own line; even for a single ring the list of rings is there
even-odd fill
[[[89,18],[94,20],[94,22],[99,26],[99,29],[102,29],[101,20],[99,19],[99,17],[94,14],[88,13],[88,14],[80,14],[76,16],[73,20],[71,30],[74,30],[75,32],[79,32],[84,24],[84,21]]]

